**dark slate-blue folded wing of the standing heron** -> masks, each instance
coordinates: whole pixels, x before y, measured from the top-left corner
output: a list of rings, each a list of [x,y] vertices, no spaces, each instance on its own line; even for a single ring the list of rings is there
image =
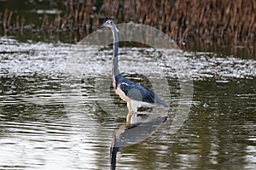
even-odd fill
[[[121,90],[125,93],[126,96],[133,100],[143,101],[150,104],[158,103],[161,105],[166,105],[166,102],[162,99],[159,99],[154,92],[144,88],[142,85],[131,82],[124,81],[120,83]]]

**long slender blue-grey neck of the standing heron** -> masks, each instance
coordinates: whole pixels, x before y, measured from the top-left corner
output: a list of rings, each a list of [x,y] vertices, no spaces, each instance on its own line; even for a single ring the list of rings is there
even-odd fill
[[[115,77],[119,75],[119,37],[116,28],[112,28],[113,33],[113,61],[112,61],[112,79],[113,79],[113,88],[116,88],[116,80]]]

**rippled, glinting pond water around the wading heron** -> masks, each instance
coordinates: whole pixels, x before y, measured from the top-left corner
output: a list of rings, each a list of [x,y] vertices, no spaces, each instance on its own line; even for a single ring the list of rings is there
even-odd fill
[[[151,130],[146,126],[140,134],[147,135],[115,145],[119,151],[110,154],[113,138],[125,135],[127,113],[111,87],[112,48],[102,48],[84,65],[84,74],[68,82],[67,59],[75,45],[11,37],[0,44],[0,169],[109,169],[114,154],[117,169],[256,167],[254,59],[202,52],[171,58],[154,48],[120,48],[125,76],[154,88],[170,106],[143,111],[167,111],[168,119]],[[175,69],[174,61],[181,61]],[[179,69],[189,70],[183,76],[192,77],[192,85],[181,81]],[[168,90],[155,86],[163,79]],[[181,83],[193,88],[192,101],[182,100]],[[172,133],[179,105],[191,108]]]

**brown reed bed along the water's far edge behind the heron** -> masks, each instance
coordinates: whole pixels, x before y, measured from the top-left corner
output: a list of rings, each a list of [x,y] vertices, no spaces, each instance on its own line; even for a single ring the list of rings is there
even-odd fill
[[[193,38],[235,44],[256,39],[256,0],[66,0],[63,6],[53,20],[44,14],[40,26],[26,26],[23,16],[5,9],[0,12],[0,31],[63,31],[85,36],[112,18],[118,23],[154,26],[180,43]]]

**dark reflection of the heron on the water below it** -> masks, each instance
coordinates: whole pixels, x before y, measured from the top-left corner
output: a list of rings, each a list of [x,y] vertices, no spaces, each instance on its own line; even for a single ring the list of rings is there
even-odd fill
[[[116,169],[116,156],[120,148],[142,142],[165,122],[167,122],[167,116],[143,118],[143,122],[135,124],[119,124],[119,127],[114,130],[110,147],[111,169]]]

